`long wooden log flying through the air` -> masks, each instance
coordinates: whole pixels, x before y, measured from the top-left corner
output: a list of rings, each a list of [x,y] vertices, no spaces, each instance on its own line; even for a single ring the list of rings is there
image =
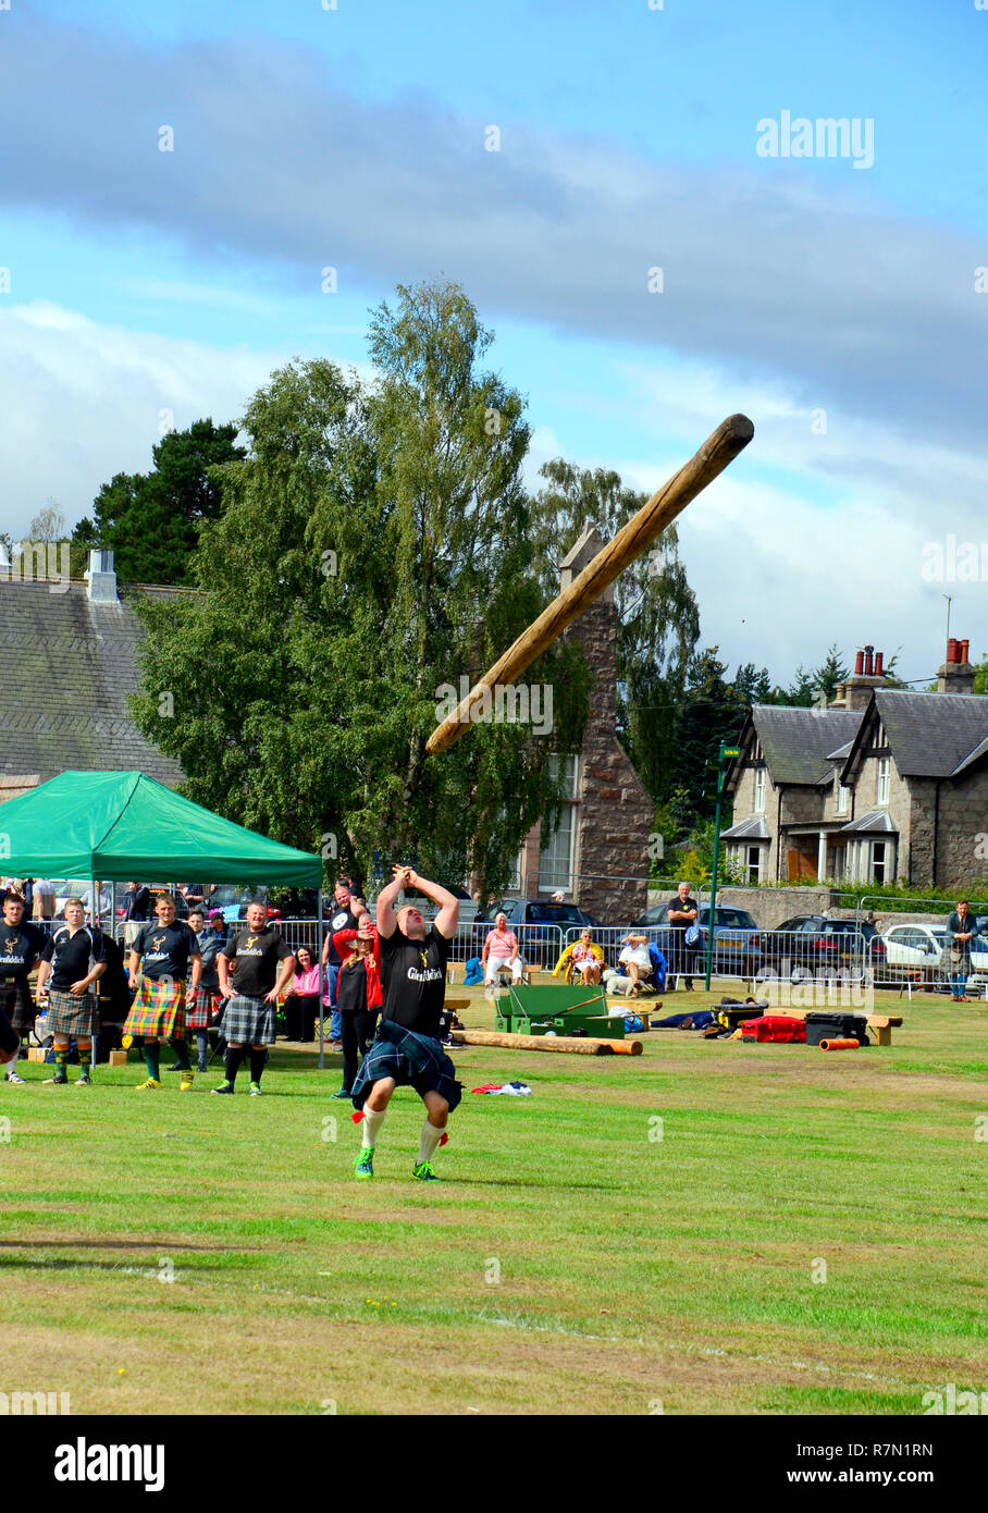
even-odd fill
[[[670,520],[685,510],[690,499],[723,472],[755,434],[755,427],[746,415],[731,415],[707,437],[701,449],[675,477],[658,489],[648,504],[643,504],[607,546],[573,578],[548,608],[542,611],[517,640],[508,646],[504,657],[474,684],[466,699],[461,699],[452,714],[437,725],[428,741],[427,752],[442,752],[452,746],[471,725],[472,711],[484,699],[484,688],[510,684],[551,646],[563,631],[599,599],[601,595],[635,557],[640,557],[661,536]],[[487,697],[490,694],[487,693]]]

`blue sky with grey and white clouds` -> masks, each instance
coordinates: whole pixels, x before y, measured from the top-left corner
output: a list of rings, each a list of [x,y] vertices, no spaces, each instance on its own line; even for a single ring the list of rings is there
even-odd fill
[[[868,640],[924,676],[923,545],[979,540],[988,481],[986,53],[973,0],[12,0],[0,528],[48,496],[79,519],[162,412],[227,419],[295,353],[363,363],[368,307],[443,272],[530,398],[533,474],[652,489],[752,416],[681,522],[731,666]],[[782,110],[873,121],[873,166],[760,157]],[[985,586],[949,587],[988,651]]]

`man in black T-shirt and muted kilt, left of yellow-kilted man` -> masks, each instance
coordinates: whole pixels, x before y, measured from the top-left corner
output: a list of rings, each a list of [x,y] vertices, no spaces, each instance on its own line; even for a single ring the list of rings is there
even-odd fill
[[[51,930],[38,964],[38,997],[42,997],[51,976],[47,1029],[54,1041],[54,1076],[45,1079],[51,1086],[68,1082],[70,1039],[79,1047],[76,1086],[89,1086],[92,1036],[100,1027],[98,1000],[89,988],[106,971],[106,941],[97,924],[86,926],[85,917],[82,899],[70,899],[65,924]]]

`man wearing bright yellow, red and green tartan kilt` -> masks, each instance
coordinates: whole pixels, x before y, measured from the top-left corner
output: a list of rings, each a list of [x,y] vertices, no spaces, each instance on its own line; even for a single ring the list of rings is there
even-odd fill
[[[162,1085],[159,1041],[166,1039],[179,1058],[179,1091],[189,1092],[192,1067],[185,1041],[185,979],[191,962],[192,990],[198,988],[203,958],[189,926],[176,918],[171,893],[157,894],[154,914],[157,924],[145,924],[130,947],[129,979],[136,997],[124,1023],[123,1045],[127,1050],[132,1041],[144,1042],[147,1079],[138,1083],[138,1089],[151,1092]]]

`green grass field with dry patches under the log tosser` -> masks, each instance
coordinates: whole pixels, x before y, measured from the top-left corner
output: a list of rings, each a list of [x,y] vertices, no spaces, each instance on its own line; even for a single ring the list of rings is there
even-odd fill
[[[85,1091],[21,1064],[0,1389],[313,1415],[920,1413],[938,1384],[983,1390],[988,1008],[882,1006],[893,1045],[846,1055],[682,1032],[634,1059],[461,1050],[466,1088],[534,1095],[464,1094],[434,1185],[410,1176],[410,1091],[354,1182],[339,1074],[301,1049],[263,1098],[242,1074],[218,1103],[219,1076],[142,1094],[132,1062]],[[492,1024],[483,1000],[463,1017]]]

